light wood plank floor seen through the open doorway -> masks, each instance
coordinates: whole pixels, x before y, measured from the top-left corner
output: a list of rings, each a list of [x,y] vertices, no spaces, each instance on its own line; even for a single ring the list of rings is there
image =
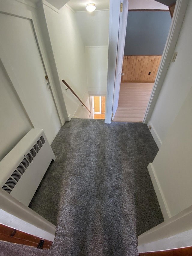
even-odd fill
[[[121,83],[114,122],[142,122],[153,83]]]

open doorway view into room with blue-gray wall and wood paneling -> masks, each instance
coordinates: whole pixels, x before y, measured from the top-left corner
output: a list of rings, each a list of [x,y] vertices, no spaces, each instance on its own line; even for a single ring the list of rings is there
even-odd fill
[[[159,23],[161,29],[158,29]],[[162,11],[155,9],[150,11],[128,11],[120,86],[120,94],[123,90],[123,94],[127,95],[127,101],[121,100],[119,94],[118,108],[120,110],[117,108],[116,114],[113,111],[115,114],[114,120],[124,122],[143,121],[170,25],[171,15],[168,7],[167,10]],[[134,31],[132,31],[132,27],[134,27]],[[146,35],[142,34],[145,28],[150,31],[147,38]],[[132,95],[132,97],[130,98],[129,95]],[[127,118],[122,116],[122,108],[125,110]],[[129,115],[127,115],[128,113]]]

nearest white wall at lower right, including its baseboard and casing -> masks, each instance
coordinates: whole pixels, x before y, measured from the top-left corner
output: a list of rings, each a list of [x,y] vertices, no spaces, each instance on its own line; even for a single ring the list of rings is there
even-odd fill
[[[192,246],[191,112],[192,88],[148,166],[165,221],[138,237],[139,252]]]

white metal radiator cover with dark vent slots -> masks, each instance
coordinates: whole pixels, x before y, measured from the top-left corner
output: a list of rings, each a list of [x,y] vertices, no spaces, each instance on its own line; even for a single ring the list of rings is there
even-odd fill
[[[0,162],[0,187],[28,206],[55,155],[42,129],[31,129]]]

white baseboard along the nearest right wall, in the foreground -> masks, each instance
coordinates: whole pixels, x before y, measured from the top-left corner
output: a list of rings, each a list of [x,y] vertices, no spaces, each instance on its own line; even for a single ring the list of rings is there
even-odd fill
[[[163,214],[164,220],[166,221],[169,218],[171,218],[172,216],[171,216],[170,210],[169,210],[169,208],[167,206],[167,202],[165,200],[163,191],[162,191],[160,183],[158,181],[158,177],[157,177],[157,175],[155,173],[155,169],[153,167],[153,164],[149,163],[147,169],[149,171],[149,175],[151,177],[151,180],[152,180],[152,183],[153,183],[153,187],[155,189],[155,193],[156,193],[157,199],[159,201],[161,212]]]

